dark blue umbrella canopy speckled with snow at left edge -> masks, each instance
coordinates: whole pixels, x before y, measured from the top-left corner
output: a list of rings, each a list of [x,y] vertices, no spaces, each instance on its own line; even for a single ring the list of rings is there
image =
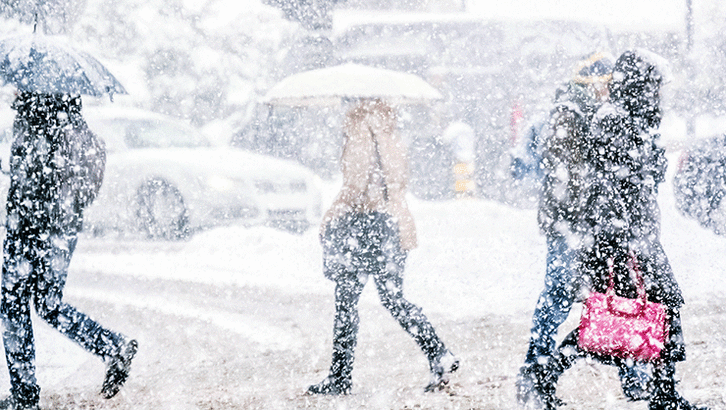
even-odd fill
[[[0,40],[0,78],[21,91],[95,97],[126,94],[98,60],[66,43],[39,34]]]

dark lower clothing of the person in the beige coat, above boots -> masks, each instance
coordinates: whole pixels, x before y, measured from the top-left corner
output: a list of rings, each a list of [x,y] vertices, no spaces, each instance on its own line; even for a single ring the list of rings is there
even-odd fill
[[[443,342],[421,309],[403,296],[407,253],[389,216],[350,214],[334,221],[323,240],[326,277],[335,281],[335,324],[330,376],[350,380],[358,335],[358,301],[372,276],[383,306],[413,337],[430,363],[445,352]]]

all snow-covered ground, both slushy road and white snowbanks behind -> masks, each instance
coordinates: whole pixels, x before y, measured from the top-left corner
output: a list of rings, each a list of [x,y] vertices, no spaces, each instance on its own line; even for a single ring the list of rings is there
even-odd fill
[[[680,217],[661,192],[663,243],[686,298],[688,361],[679,390],[726,408],[726,238]],[[101,362],[36,320],[38,379],[52,409],[514,409],[514,377],[543,280],[533,210],[487,201],[413,201],[420,247],[406,293],[462,361],[451,387],[424,394],[427,364],[372,286],[361,301],[353,395],[304,394],[330,359],[333,285],[316,233],[220,228],[182,243],[83,237],[67,300],[138,339],[118,397],[98,396]],[[577,312],[563,329],[574,328]],[[9,387],[0,372],[0,390]],[[559,394],[571,409],[639,409],[614,369],[579,364]]]

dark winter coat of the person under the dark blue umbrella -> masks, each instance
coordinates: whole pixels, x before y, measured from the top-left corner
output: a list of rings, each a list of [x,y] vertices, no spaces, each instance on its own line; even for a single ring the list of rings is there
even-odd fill
[[[13,108],[8,231],[73,234],[103,181],[106,151],[80,114],[80,97],[23,93]]]

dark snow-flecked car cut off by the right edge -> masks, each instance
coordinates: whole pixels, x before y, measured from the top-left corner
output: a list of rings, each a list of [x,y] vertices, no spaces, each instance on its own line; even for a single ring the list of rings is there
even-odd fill
[[[719,235],[726,235],[726,134],[685,150],[674,180],[678,210]]]

